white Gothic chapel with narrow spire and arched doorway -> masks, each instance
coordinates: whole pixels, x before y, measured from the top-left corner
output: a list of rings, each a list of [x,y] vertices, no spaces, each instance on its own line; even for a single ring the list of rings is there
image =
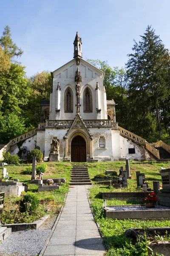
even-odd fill
[[[144,139],[118,126],[115,102],[107,100],[103,85],[105,73],[82,59],[78,32],[74,58],[51,76],[50,102],[42,104],[39,128],[23,141],[23,148],[39,148],[44,161],[152,160]],[[18,150],[13,146],[10,151]]]

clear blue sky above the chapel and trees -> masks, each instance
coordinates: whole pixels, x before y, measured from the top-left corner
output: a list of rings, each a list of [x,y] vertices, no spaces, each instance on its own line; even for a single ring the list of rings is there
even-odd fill
[[[27,76],[70,61],[77,31],[83,59],[111,67],[125,65],[133,38],[139,41],[147,25],[170,49],[169,0],[1,0],[0,7],[0,36],[10,26]]]

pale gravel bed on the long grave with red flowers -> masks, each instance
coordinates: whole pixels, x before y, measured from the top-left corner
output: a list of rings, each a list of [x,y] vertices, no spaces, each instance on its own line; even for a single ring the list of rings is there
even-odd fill
[[[154,210],[170,210],[170,207],[165,207],[165,206],[155,206],[153,208],[147,208],[145,206],[107,206],[106,209],[108,209],[109,211],[112,212],[116,212],[116,211],[154,211]]]

